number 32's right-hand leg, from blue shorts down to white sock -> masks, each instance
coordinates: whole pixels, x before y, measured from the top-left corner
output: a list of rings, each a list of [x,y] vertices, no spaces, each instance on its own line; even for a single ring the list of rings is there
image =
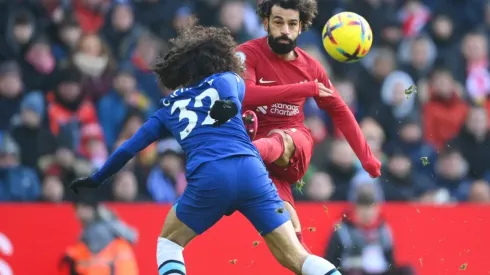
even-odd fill
[[[265,167],[244,162],[238,209],[264,236],[272,254],[281,265],[304,275],[339,275],[327,260],[309,254],[298,241],[284,202],[268,178]],[[243,179],[248,179],[248,182]]]

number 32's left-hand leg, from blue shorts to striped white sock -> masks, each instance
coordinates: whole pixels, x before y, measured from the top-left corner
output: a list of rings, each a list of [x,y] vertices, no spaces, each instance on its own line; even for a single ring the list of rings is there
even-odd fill
[[[202,165],[188,179],[187,187],[167,214],[157,243],[157,264],[160,275],[185,275],[183,250],[197,235],[202,234],[231,208],[236,188],[227,184],[234,179],[228,173],[227,160]]]

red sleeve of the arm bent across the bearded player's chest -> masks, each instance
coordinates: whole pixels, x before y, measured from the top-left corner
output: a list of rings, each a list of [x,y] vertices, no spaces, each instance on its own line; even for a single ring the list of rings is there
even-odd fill
[[[318,86],[314,82],[277,86],[256,85],[256,69],[261,65],[254,50],[248,45],[240,45],[237,54],[245,65],[246,94],[243,105],[261,106],[279,102],[285,98],[296,100],[317,96]]]

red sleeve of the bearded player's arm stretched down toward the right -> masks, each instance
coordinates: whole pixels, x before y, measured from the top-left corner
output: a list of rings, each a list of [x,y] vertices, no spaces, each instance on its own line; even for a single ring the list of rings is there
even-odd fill
[[[374,156],[354,114],[352,114],[352,111],[345,104],[339,93],[337,93],[323,69],[320,72],[318,80],[327,88],[334,91],[333,96],[330,97],[315,97],[318,107],[326,111],[332,118],[335,126],[342,132],[361,163],[364,165],[370,162]]]

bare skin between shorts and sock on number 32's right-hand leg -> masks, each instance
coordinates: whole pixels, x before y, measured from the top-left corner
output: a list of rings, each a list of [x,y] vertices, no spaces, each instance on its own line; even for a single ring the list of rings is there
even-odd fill
[[[265,235],[264,240],[279,263],[296,274],[301,274],[308,252],[299,242],[290,222],[282,224]]]

